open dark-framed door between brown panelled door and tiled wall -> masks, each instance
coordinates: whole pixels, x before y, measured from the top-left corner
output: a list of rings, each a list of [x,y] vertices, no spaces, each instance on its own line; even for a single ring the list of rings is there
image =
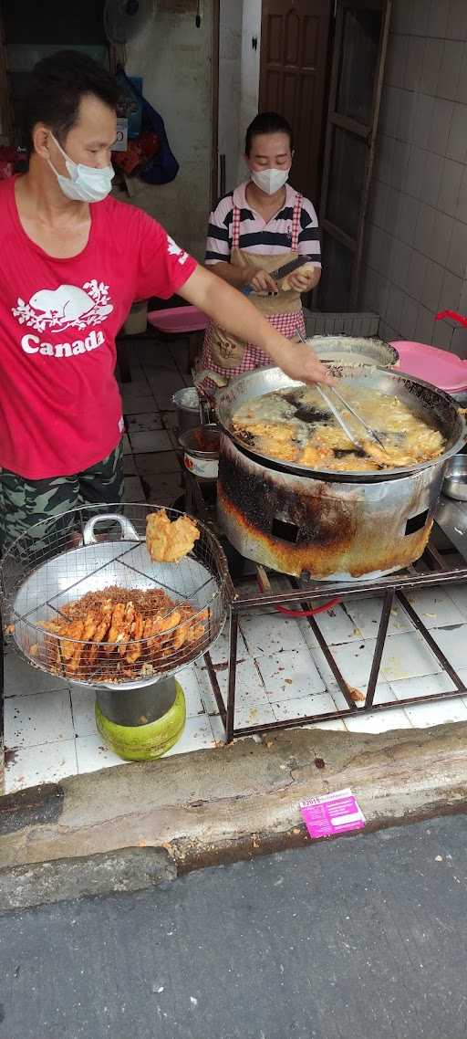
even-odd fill
[[[322,311],[358,303],[391,0],[336,0],[320,225]]]

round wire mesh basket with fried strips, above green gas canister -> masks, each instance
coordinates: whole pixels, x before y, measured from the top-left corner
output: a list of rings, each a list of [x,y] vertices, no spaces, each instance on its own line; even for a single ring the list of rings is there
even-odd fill
[[[29,663],[81,685],[140,687],[207,652],[231,595],[226,559],[196,522],[189,555],[154,562],[146,516],[159,509],[86,506],[13,542],[0,568],[4,623]]]

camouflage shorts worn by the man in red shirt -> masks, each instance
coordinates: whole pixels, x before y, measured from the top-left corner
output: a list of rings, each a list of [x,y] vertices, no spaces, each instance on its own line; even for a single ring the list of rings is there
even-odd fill
[[[111,505],[123,497],[121,443],[107,458],[75,476],[27,480],[0,470],[0,545],[2,552],[34,524],[83,505]],[[73,525],[73,520],[68,521]]]

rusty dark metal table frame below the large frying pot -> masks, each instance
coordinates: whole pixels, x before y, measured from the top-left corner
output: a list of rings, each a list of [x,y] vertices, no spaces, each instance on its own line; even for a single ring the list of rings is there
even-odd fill
[[[335,582],[334,584],[327,582],[326,584],[323,584],[323,582],[320,582],[303,586],[303,584],[301,584],[298,580],[291,579],[292,590],[283,592],[274,591],[264,568],[256,567],[259,585],[257,594],[242,595],[240,587],[237,589],[237,597],[233,600],[230,607],[228,693],[226,703],[219,686],[211,656],[210,654],[207,654],[204,657],[213,693],[224,725],[226,742],[230,743],[233,739],[243,736],[276,731],[282,728],[296,728],[301,725],[312,725],[323,721],[345,719],[351,716],[355,717],[357,715],[364,714],[365,712],[390,711],[393,708],[401,708],[408,703],[429,703],[432,700],[434,701],[450,699],[456,696],[466,696],[467,688],[443,654],[442,649],[440,649],[435,642],[433,635],[429,632],[421,618],[413,609],[411,603],[409,603],[407,592],[421,588],[438,588],[442,585],[448,586],[465,581],[467,579],[467,561],[462,560],[462,565],[459,568],[449,568],[437,549],[430,544],[422,557],[422,560],[429,566],[429,570],[427,572],[420,571],[415,565],[409,567],[403,572],[393,574],[387,578],[381,578],[378,581],[364,584],[362,584],[362,582],[354,582],[352,584],[341,584],[339,582]],[[327,645],[315,618],[313,616],[308,616],[306,619],[334,675],[337,686],[346,699],[347,707],[341,710],[336,708],[335,711],[328,711],[324,714],[287,718],[281,721],[257,723],[241,727],[236,726],[237,644],[239,618],[242,613],[250,612],[251,610],[258,608],[265,609],[274,606],[298,607],[299,609],[305,611],[334,597],[338,597],[341,603],[346,603],[352,598],[367,597],[369,594],[382,594],[383,605],[365,700],[362,705],[356,705],[352,698],[348,683],[346,682],[346,678],[334,659],[331,647]],[[391,700],[387,703],[375,703],[375,694],[380,673],[381,660],[386,644],[391,609],[395,600],[404,607],[411,621],[415,625],[416,631],[418,631],[423,637],[425,643],[430,646],[431,650],[441,664],[443,671],[445,671],[452,681],[455,685],[454,690],[445,693],[427,694],[424,696],[407,696],[404,697],[404,699]]]

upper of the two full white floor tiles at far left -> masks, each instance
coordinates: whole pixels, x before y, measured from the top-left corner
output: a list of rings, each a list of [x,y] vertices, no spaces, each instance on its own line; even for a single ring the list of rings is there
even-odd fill
[[[72,707],[67,689],[5,700],[7,747],[36,747],[73,740]]]

